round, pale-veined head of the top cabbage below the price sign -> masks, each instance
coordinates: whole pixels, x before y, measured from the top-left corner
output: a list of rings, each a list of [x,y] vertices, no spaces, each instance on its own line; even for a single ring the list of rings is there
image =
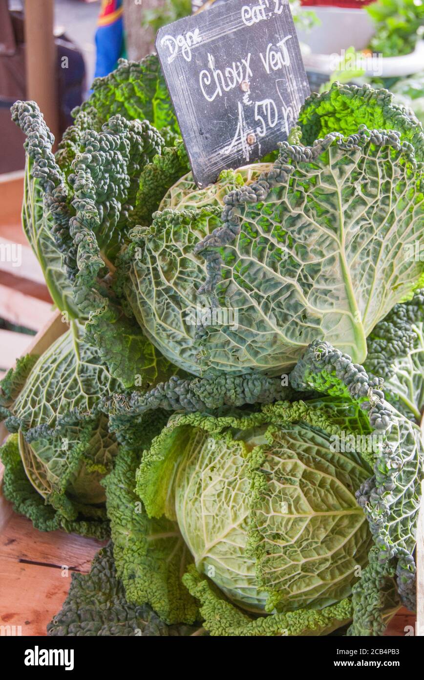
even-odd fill
[[[152,343],[196,375],[278,375],[321,337],[362,361],[372,328],[421,280],[404,245],[422,237],[423,184],[395,132],[281,143],[273,169],[226,195],[221,219],[216,192],[192,210],[183,188],[184,209],[133,230],[122,288]]]

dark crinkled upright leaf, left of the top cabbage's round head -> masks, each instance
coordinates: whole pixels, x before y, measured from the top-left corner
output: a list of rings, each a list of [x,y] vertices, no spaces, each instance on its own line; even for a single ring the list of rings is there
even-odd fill
[[[100,133],[84,135],[84,152],[75,157],[74,172],[69,175],[75,209],[69,220],[75,257],[73,294],[82,316],[89,316],[113,297],[103,280],[108,273],[105,254],[112,261],[116,256],[135,202],[141,167],[163,143],[146,120],[128,122],[121,116],[109,118]]]

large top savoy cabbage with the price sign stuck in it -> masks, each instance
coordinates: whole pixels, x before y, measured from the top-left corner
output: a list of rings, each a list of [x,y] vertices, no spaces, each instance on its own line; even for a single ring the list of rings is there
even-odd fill
[[[134,86],[133,70],[111,76],[118,92],[126,78]],[[386,90],[334,84],[306,100],[300,143],[281,143],[274,164],[198,190],[175,126],[128,120],[110,82],[83,107],[92,100],[109,120],[87,127],[77,114],[69,171],[36,107],[14,105],[30,158],[42,141],[48,231],[90,341],[104,352],[113,324],[115,337],[139,326],[141,345],[194,375],[279,375],[321,338],[363,362],[366,337],[423,277],[406,257],[424,225],[424,133],[408,110]],[[132,367],[111,370],[130,386]]]

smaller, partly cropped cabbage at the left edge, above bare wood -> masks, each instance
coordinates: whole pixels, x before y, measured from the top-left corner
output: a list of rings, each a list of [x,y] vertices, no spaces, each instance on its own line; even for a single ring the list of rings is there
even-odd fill
[[[18,360],[0,385],[0,415],[12,435],[0,449],[4,494],[41,530],[58,527],[104,538],[101,480],[118,453],[102,396],[118,389],[84,326],[71,322],[39,358]]]

